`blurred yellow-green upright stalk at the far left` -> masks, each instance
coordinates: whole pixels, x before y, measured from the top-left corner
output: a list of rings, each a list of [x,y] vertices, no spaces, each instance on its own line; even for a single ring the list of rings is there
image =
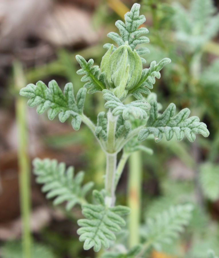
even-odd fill
[[[21,64],[14,63],[14,80],[16,89],[25,85]],[[18,165],[19,165],[19,191],[22,220],[22,246],[23,257],[31,258],[31,230],[30,230],[30,209],[31,209],[31,185],[30,185],[30,163],[27,155],[27,124],[26,124],[26,100],[23,97],[16,99],[16,121],[18,136]]]

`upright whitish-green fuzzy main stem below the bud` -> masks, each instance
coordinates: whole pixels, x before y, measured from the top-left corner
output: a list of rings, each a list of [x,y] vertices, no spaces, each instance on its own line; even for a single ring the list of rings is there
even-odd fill
[[[107,191],[106,204],[114,206],[115,204],[115,174],[117,163],[117,152],[115,150],[115,131],[117,117],[113,116],[110,110],[107,113],[107,147],[106,147],[106,178],[105,189]]]

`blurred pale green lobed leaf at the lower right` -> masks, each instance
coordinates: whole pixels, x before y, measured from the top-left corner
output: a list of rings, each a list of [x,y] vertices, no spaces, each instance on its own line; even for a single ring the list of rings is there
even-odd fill
[[[143,238],[155,249],[161,250],[162,244],[170,244],[184,231],[184,226],[190,221],[192,210],[191,204],[171,206],[155,218],[147,219]]]

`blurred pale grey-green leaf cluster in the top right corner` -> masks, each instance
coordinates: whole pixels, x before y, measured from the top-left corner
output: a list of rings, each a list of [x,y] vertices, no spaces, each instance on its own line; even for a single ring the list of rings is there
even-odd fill
[[[174,5],[174,24],[176,37],[186,42],[186,50],[195,52],[219,30],[219,15],[213,15],[215,7],[212,0],[192,0],[190,9]]]

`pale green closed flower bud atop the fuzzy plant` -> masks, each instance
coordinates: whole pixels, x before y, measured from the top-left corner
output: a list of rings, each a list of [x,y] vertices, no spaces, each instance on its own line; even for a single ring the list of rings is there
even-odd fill
[[[118,98],[124,98],[141,79],[141,58],[136,50],[131,50],[128,41],[111,54],[112,49],[113,45],[103,56],[100,69],[106,73],[106,86]]]

